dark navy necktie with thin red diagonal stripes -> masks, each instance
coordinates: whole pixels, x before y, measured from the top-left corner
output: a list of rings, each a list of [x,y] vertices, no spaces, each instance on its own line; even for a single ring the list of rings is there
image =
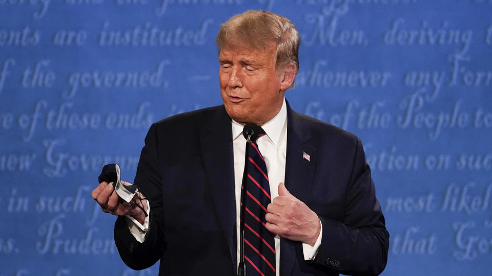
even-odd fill
[[[260,128],[258,138],[265,132]],[[267,205],[272,202],[267,165],[256,141],[251,141],[247,159],[247,182],[244,194],[244,261],[248,276],[275,276],[274,235],[265,228]]]

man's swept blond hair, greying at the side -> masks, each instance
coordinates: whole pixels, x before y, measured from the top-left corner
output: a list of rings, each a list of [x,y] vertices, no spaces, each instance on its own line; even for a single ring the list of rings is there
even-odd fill
[[[235,15],[220,25],[215,43],[219,53],[238,45],[258,50],[275,43],[277,70],[290,63],[296,65],[296,73],[299,70],[299,32],[291,20],[275,13],[250,10]]]

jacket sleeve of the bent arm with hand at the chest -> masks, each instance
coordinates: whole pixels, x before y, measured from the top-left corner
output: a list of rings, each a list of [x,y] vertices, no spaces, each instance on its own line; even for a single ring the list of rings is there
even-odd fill
[[[348,275],[377,275],[386,266],[389,235],[360,140],[346,187],[342,221],[320,216],[323,236],[315,265]]]

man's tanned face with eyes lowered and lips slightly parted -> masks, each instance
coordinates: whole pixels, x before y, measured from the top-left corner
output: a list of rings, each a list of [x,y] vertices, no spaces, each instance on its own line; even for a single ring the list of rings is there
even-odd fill
[[[275,71],[276,51],[273,43],[264,50],[220,50],[220,94],[234,121],[261,126],[280,111],[285,88]]]

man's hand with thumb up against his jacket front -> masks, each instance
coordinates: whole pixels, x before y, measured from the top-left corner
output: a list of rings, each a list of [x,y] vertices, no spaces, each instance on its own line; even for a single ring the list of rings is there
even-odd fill
[[[318,215],[289,193],[283,182],[278,185],[278,197],[268,204],[267,210],[268,231],[314,246],[321,231]]]

